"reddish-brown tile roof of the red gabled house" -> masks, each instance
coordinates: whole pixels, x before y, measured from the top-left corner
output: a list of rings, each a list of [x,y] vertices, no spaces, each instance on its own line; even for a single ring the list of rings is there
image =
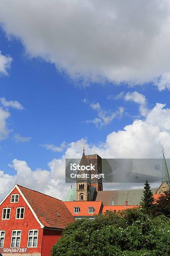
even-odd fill
[[[70,211],[61,200],[20,185],[18,187],[45,227],[63,229],[67,223],[74,221]]]

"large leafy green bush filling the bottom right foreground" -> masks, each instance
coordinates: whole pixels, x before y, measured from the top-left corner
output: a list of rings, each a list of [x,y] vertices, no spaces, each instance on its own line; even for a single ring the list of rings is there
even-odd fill
[[[71,223],[52,248],[51,256],[168,256],[170,219],[150,218],[142,209],[119,215],[106,212],[95,220]]]

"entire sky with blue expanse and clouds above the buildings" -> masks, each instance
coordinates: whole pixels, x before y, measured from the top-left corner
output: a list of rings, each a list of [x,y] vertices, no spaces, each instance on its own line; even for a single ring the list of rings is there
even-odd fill
[[[65,200],[84,145],[169,158],[169,45],[168,0],[1,0],[0,198],[17,183]]]

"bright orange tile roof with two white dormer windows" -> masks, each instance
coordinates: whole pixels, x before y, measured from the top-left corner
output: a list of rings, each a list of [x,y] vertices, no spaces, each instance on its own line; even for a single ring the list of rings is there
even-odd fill
[[[102,212],[102,201],[73,201],[73,202],[64,202],[68,210],[74,217],[77,216],[94,216]],[[74,213],[74,207],[79,207],[80,212]],[[94,207],[94,213],[89,213],[88,208]]]

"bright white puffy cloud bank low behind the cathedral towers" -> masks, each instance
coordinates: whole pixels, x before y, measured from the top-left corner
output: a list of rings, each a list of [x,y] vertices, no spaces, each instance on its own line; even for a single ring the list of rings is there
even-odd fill
[[[0,172],[1,198],[18,183],[65,200],[71,185],[65,184],[65,158],[80,158],[84,144],[86,154],[91,154],[93,146],[93,154],[102,158],[160,158],[163,145],[165,157],[170,158],[170,109],[157,103],[145,120],[135,120],[120,131],[113,131],[100,145],[90,145],[85,139],[70,143],[60,159],[53,159],[48,164],[49,170],[32,170],[25,161],[14,159],[10,164],[16,171],[14,176]],[[121,186],[124,184],[104,184],[105,189]],[[126,185],[134,186],[137,187],[136,184]]]

